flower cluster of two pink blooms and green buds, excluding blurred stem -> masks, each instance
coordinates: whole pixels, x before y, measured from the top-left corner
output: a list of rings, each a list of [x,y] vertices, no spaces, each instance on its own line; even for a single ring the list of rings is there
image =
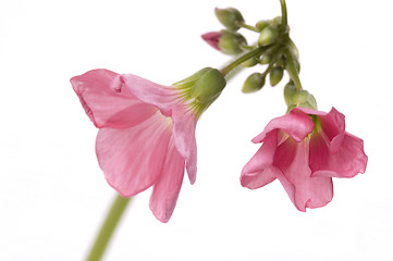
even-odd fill
[[[132,74],[93,70],[71,79],[86,114],[97,128],[96,152],[107,182],[121,196],[152,187],[150,209],[161,222],[173,213],[186,169],[197,172],[195,128],[202,112],[220,96],[226,76],[237,66],[266,66],[253,73],[243,92],[261,89],[269,75],[278,85],[284,72],[286,114],[270,121],[253,139],[260,149],[245,164],[241,184],[260,188],[279,179],[299,211],[323,207],[333,197],[333,177],[364,173],[364,142],[345,132],[345,119],[334,108],[318,111],[315,97],[299,80],[297,48],[290,38],[285,1],[282,16],[247,25],[236,9],[216,9],[225,27],[202,38],[225,54],[238,55],[221,70],[206,67],[171,86]],[[258,34],[248,46],[240,28]],[[226,78],[225,78],[226,77]]]

